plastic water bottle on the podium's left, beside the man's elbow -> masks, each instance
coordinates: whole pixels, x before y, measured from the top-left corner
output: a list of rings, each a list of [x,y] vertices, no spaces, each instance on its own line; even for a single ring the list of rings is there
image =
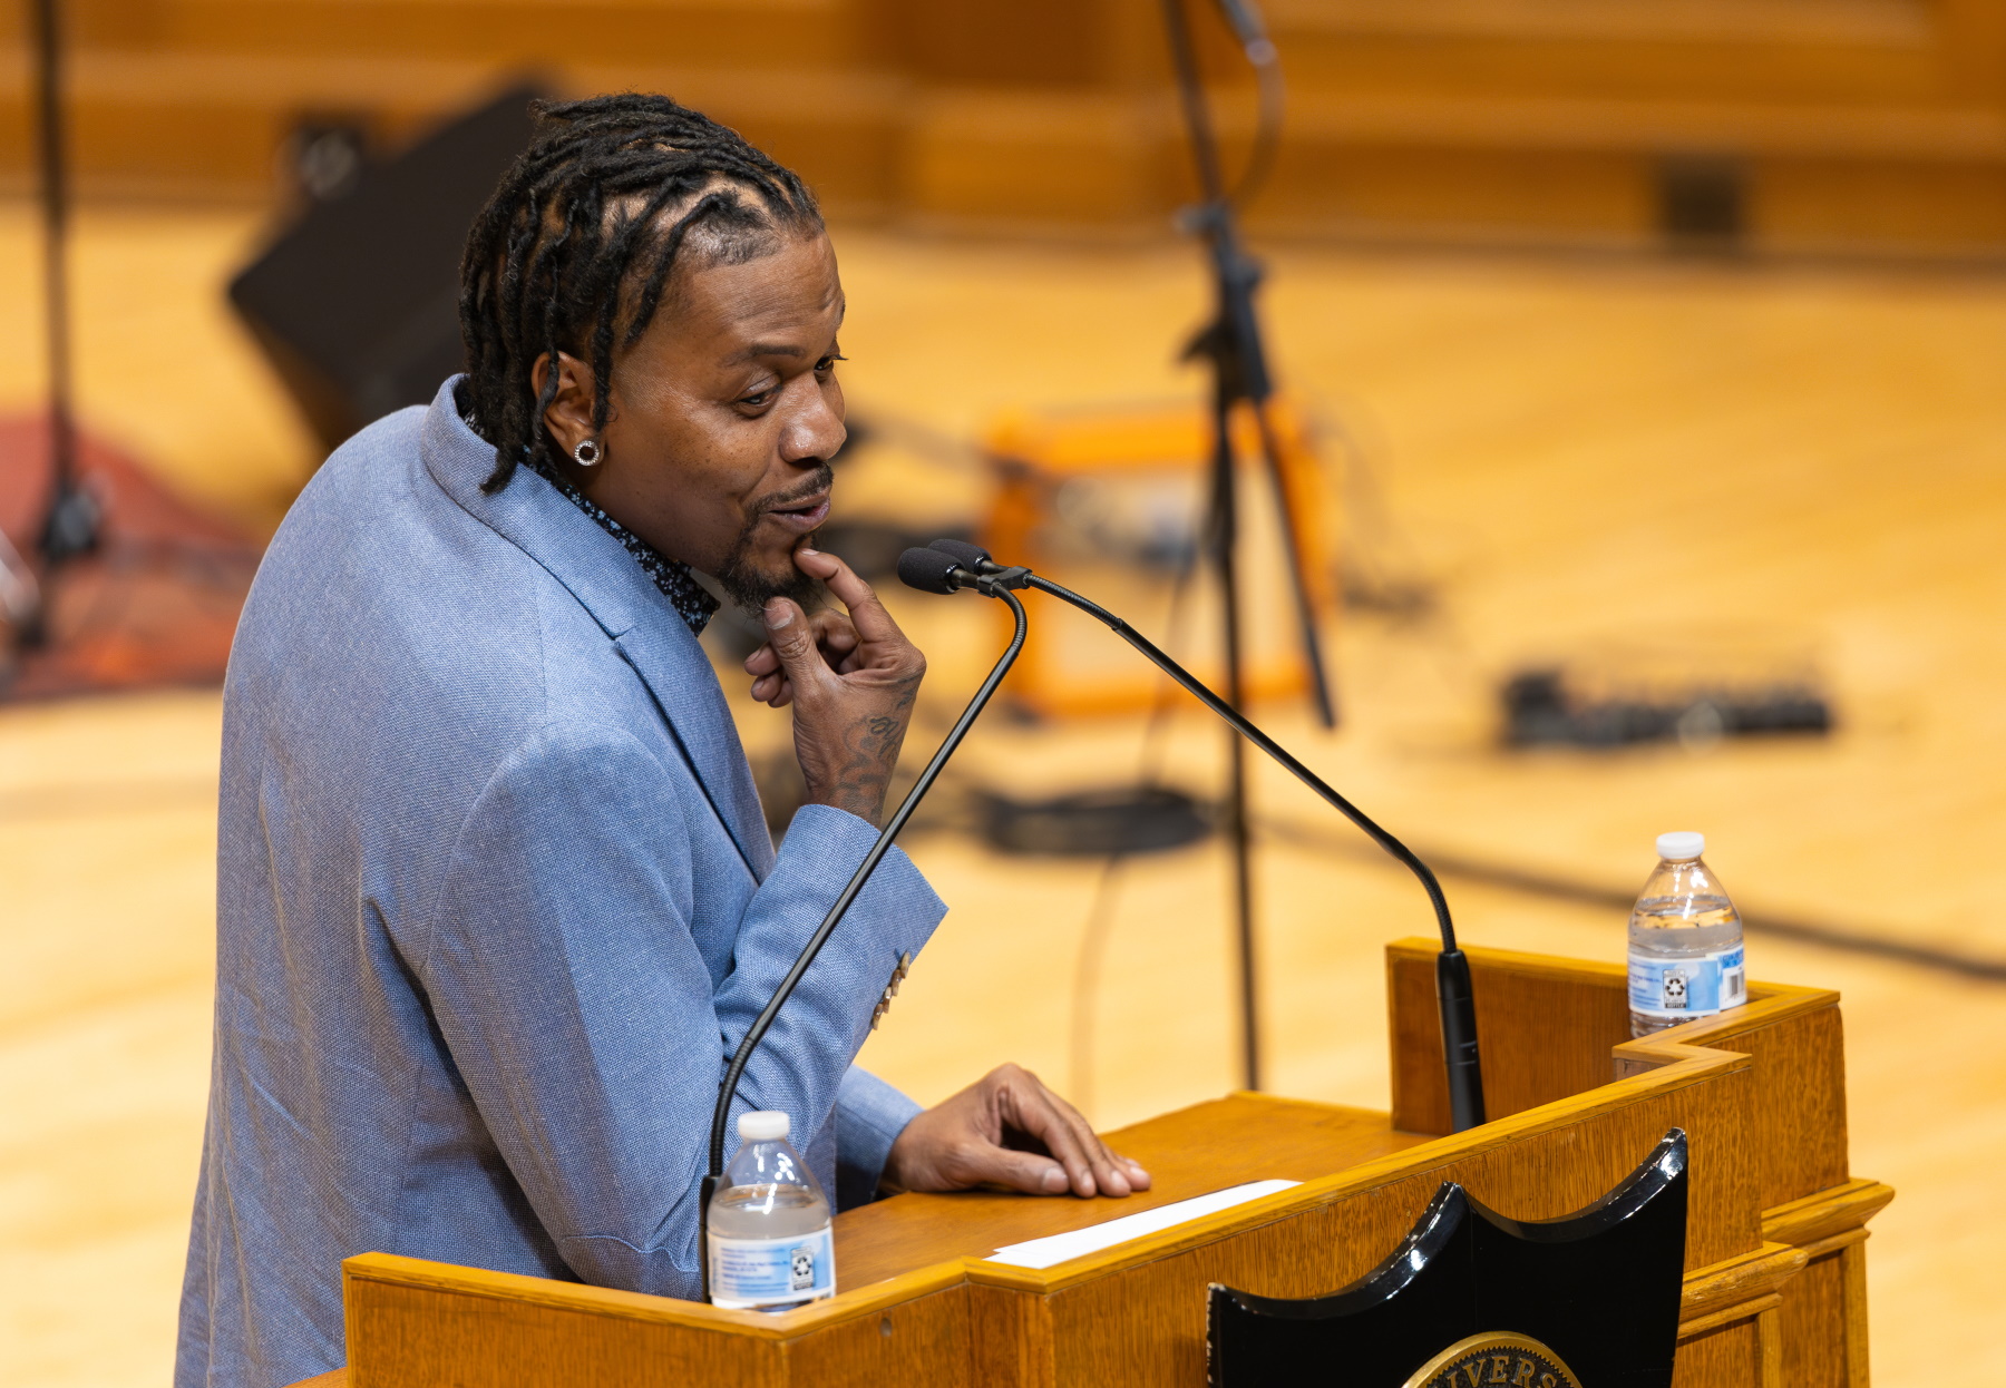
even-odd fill
[[[738,1155],[710,1197],[712,1306],[784,1312],[837,1294],[828,1199],[786,1131],[786,1113],[738,1115]]]

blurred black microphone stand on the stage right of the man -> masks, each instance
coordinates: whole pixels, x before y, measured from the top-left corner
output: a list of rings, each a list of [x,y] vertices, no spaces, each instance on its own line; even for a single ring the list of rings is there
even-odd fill
[[[1248,58],[1262,78],[1264,124],[1278,114],[1280,70],[1276,68],[1274,44],[1258,30],[1252,10],[1236,0],[1226,0],[1228,22],[1240,32]],[[1232,441],[1234,407],[1246,403],[1260,429],[1260,451],[1266,461],[1268,479],[1274,485],[1276,513],[1282,519],[1282,538],[1290,570],[1290,586],[1296,598],[1296,624],[1300,628],[1302,658],[1310,668],[1310,688],[1316,700],[1316,716],[1326,728],[1334,728],[1336,704],[1330,682],[1324,674],[1322,642],[1316,632],[1316,604],[1310,596],[1304,572],[1302,538],[1296,515],[1290,507],[1288,483],[1282,475],[1282,459],[1268,415],[1268,399],[1274,393],[1268,375],[1268,353],[1262,345],[1260,317],[1254,311],[1254,289],[1260,285],[1260,265],[1242,249],[1240,231],[1234,219],[1234,203],[1220,172],[1220,148],[1212,128],[1212,114],[1206,90],[1198,74],[1198,56],[1192,46],[1190,14],[1186,0],[1163,0],[1163,24],[1169,34],[1172,56],[1178,68],[1178,94],[1184,104],[1184,122],[1192,140],[1192,160],[1198,166],[1198,183],[1204,201],[1184,215],[1186,229],[1202,235],[1210,253],[1214,297],[1218,303],[1212,323],[1186,347],[1186,361],[1204,357],[1212,363],[1212,499],[1208,532],[1212,560],[1220,582],[1220,606],[1224,608],[1224,658],[1226,658],[1226,704],[1246,706],[1246,674],[1240,634],[1240,505],[1238,479]],[[1256,142],[1250,175],[1258,175],[1266,156],[1266,144]],[[1242,185],[1246,187],[1246,185]],[[1248,826],[1248,772],[1246,746],[1240,738],[1230,744],[1232,776],[1228,790],[1226,832],[1234,848],[1234,913],[1240,943],[1240,1025],[1244,1085],[1260,1089],[1260,997],[1256,979],[1254,941],[1254,844]]]

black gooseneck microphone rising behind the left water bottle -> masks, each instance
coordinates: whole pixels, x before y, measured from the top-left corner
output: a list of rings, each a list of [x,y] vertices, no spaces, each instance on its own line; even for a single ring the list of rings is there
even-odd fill
[[[786,977],[780,979],[780,987],[776,987],[772,997],[766,999],[766,1007],[760,1009],[758,1017],[746,1029],[744,1039],[738,1041],[738,1049],[732,1053],[730,1065],[724,1069],[724,1079],[718,1083],[718,1107],[710,1113],[710,1165],[704,1171],[696,1211],[698,1256],[702,1262],[706,1302],[710,1300],[710,1199],[718,1193],[718,1181],[724,1177],[724,1127],[730,1121],[732,1097],[738,1093],[738,1081],[746,1071],[746,1063],[752,1059],[752,1051],[758,1049],[758,1043],[766,1039],[766,1033],[772,1031],[772,1023],[780,1015],[780,1007],[794,995],[794,987],[800,985],[802,975],[808,973],[808,965],[812,965],[814,957],[822,953],[822,945],[828,943],[828,937],[834,933],[837,925],[843,923],[843,917],[849,915],[851,903],[857,901],[857,895],[865,889],[865,883],[871,881],[877,864],[891,850],[899,830],[905,828],[907,820],[913,818],[913,810],[919,808],[927,790],[933,788],[941,768],[947,766],[947,758],[953,756],[955,748],[961,746],[961,740],[969,736],[969,728],[975,726],[975,718],[989,704],[997,686],[1003,684],[1003,676],[1009,674],[1009,668],[1017,664],[1017,652],[1023,650],[1025,620],[1023,604],[1017,602],[1017,596],[989,578],[977,578],[973,574],[967,576],[967,582],[961,582],[959,578],[949,582],[949,572],[959,574],[955,562],[939,554],[933,554],[933,558],[927,560],[913,560],[913,556],[927,554],[931,552],[907,550],[899,558],[899,578],[913,588],[925,588],[927,592],[951,594],[957,588],[975,588],[991,598],[1001,598],[1009,604],[1011,616],[1017,618],[1017,630],[1011,636],[1009,648],[997,656],[995,666],[991,666],[989,678],[983,680],[979,690],[975,690],[975,698],[971,698],[967,708],[961,710],[961,718],[957,718],[955,726],[949,728],[945,738],[941,738],[941,746],[935,750],[933,760],[929,760],[927,768],[919,772],[919,780],[913,782],[913,788],[905,792],[905,800],[899,802],[899,808],[893,810],[893,816],[885,822],[885,828],[879,832],[877,842],[871,844],[865,860],[857,864],[855,873],[851,873],[851,881],[837,897],[837,905],[828,909],[828,915],[822,917],[814,935],[808,937],[808,943],[794,959],[794,967],[786,971]],[[913,578],[909,578],[909,568]],[[915,578],[923,578],[925,582],[915,582]]]

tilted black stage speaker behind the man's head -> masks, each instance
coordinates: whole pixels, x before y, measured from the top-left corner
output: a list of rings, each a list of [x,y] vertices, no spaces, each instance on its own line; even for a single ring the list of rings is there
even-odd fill
[[[461,369],[459,253],[530,144],[538,96],[512,88],[367,164],[231,281],[231,303],[329,449],[393,409],[431,403]]]

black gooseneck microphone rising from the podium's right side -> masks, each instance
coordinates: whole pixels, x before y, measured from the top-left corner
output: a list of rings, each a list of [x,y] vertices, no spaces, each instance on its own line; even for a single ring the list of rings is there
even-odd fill
[[[1364,810],[1332,790],[1322,776],[1290,756],[1280,742],[1248,722],[1238,708],[1206,688],[1198,676],[1163,654],[1155,642],[1145,638],[1107,608],[1081,598],[1069,588],[1053,584],[1049,578],[1039,578],[1027,568],[1007,568],[997,564],[987,550],[967,544],[965,540],[935,540],[931,548],[947,560],[947,568],[941,570],[939,580],[945,586],[929,588],[929,592],[977,588],[979,592],[995,596],[1013,588],[1035,588],[1041,594],[1051,594],[1059,602],[1079,608],[1089,618],[1139,650],[1163,674],[1190,690],[1198,702],[1232,724],[1234,730],[1248,742],[1280,762],[1296,780],[1320,794],[1328,804],[1344,814],[1344,818],[1362,828],[1372,842],[1420,879],[1422,891],[1428,893],[1428,905],[1434,907],[1434,923],[1442,933],[1442,953],[1434,961],[1434,997],[1442,1011],[1442,1061],[1448,1067],[1450,1129],[1460,1133],[1482,1123],[1484,1079],[1482,1063],[1476,1055],[1476,997],[1470,989],[1470,961],[1460,949],[1456,949],[1456,927],[1448,917],[1448,899],[1442,895],[1442,885],[1434,881],[1434,873],[1428,864],[1414,856],[1412,848],[1380,828]],[[911,554],[911,550],[907,554]],[[917,568],[919,562],[915,562],[915,570]],[[933,574],[935,570],[929,568],[927,572]],[[901,578],[903,574],[905,566],[901,562]],[[957,576],[965,576],[965,580]],[[983,588],[985,582],[991,588]],[[919,586],[921,584],[915,584],[915,588]]]

